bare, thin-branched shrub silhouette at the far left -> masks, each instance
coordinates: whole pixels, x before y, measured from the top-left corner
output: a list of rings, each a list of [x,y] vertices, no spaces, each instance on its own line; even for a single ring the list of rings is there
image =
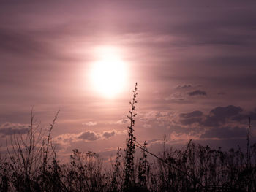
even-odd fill
[[[39,174],[42,165],[42,129],[40,123],[34,120],[31,110],[31,124],[25,136],[15,134],[10,137],[10,147],[7,144],[7,151],[10,157],[10,170],[12,172],[11,188],[16,191],[33,191],[32,178]],[[11,151],[10,151],[11,150]]]

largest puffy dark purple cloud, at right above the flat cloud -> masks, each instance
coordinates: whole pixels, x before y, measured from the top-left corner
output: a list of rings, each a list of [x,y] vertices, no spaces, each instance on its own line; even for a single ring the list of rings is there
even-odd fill
[[[206,119],[201,123],[203,126],[217,127],[226,122],[227,119],[233,118],[242,112],[241,107],[229,105],[227,107],[216,107],[206,115]]]

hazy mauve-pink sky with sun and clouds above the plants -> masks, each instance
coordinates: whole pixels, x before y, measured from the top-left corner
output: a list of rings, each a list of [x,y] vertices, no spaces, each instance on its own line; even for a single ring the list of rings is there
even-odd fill
[[[148,148],[256,142],[255,1],[1,1],[0,145],[31,110],[53,141],[105,159],[135,137]]]

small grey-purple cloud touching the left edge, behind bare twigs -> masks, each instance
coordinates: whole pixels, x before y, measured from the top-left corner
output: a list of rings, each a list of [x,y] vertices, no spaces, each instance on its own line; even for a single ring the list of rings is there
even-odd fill
[[[29,131],[30,126],[27,124],[20,123],[1,123],[0,125],[0,134],[4,136],[11,134],[26,134]]]

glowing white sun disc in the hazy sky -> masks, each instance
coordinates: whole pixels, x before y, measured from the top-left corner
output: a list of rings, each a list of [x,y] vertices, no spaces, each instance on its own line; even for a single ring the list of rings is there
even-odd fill
[[[103,96],[113,98],[126,84],[127,66],[113,47],[101,47],[97,54],[99,61],[92,64],[90,74],[92,85]]]

